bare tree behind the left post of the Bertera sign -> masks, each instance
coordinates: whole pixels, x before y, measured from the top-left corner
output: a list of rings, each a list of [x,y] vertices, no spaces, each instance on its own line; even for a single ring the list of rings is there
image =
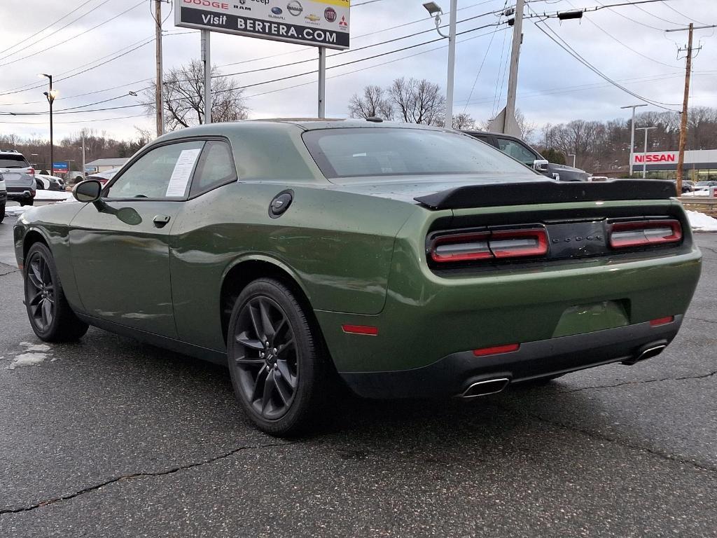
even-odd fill
[[[220,77],[219,69],[212,67],[212,123],[237,121],[247,118],[244,90],[229,77]],[[143,98],[147,115],[154,115],[154,88],[147,88]],[[204,123],[204,66],[199,60],[174,67],[164,75],[163,105],[166,129],[174,131]]]

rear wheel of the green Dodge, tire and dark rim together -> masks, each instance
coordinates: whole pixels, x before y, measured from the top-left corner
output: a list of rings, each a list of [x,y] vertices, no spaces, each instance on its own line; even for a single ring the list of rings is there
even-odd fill
[[[315,425],[331,388],[323,349],[285,284],[260,278],[244,288],[229,319],[227,360],[234,395],[257,428],[284,437]]]

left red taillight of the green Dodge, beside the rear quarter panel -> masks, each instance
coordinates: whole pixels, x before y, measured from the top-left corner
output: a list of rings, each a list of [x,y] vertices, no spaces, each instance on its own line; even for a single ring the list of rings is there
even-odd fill
[[[526,258],[548,253],[548,234],[543,228],[487,230],[440,235],[429,247],[437,263]]]

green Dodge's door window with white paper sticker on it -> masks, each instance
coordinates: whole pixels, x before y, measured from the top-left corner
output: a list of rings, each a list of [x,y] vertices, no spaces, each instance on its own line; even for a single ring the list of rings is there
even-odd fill
[[[184,198],[204,141],[159,146],[141,156],[110,187],[107,198]]]

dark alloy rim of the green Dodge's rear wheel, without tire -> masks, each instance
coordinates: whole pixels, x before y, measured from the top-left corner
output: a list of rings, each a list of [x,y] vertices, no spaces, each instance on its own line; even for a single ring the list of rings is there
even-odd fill
[[[296,341],[288,318],[265,296],[250,299],[239,313],[234,364],[239,386],[257,414],[275,420],[288,412],[299,381]]]

